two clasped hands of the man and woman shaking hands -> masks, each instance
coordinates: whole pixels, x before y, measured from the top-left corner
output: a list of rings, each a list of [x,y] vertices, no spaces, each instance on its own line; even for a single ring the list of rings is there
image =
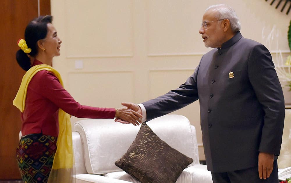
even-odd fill
[[[139,105],[134,103],[121,103],[125,107],[120,107],[116,109],[116,118],[114,121],[129,124],[132,123],[134,126],[142,123],[142,111]]]

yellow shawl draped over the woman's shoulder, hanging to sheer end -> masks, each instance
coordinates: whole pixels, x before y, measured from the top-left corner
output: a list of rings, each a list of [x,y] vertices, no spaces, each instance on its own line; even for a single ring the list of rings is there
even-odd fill
[[[60,74],[54,68],[46,64],[39,64],[31,67],[23,76],[19,90],[13,100],[15,105],[21,112],[25,109],[26,92],[32,77],[41,70],[47,70],[54,73],[61,85],[63,81]],[[74,167],[74,154],[72,144],[72,128],[70,115],[59,109],[59,134],[57,140],[57,150],[54,156],[52,171],[49,175],[48,182],[72,182],[72,173]]]

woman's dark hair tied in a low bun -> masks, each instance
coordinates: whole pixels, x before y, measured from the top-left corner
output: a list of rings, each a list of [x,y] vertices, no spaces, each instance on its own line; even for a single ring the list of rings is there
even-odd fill
[[[39,16],[26,26],[24,39],[27,47],[31,49],[28,55],[35,57],[38,54],[37,42],[47,36],[47,24],[52,23],[52,20],[53,17],[51,15]],[[16,52],[16,60],[19,66],[25,71],[31,68],[30,58],[21,49]]]

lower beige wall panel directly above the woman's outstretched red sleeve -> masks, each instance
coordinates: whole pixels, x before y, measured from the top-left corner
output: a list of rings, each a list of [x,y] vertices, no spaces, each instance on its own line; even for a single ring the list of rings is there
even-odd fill
[[[134,100],[133,78],[132,71],[70,72],[68,91],[83,105],[121,107],[121,102]]]

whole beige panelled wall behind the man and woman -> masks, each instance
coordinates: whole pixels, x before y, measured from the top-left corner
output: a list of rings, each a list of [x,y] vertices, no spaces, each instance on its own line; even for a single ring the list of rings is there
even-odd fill
[[[242,35],[265,44],[273,58],[279,50],[283,59],[290,53],[291,13],[262,0],[51,0],[53,24],[63,41],[54,67],[83,105],[120,107],[157,97],[182,84],[210,50],[198,30],[204,10],[217,3],[232,6]],[[75,68],[76,61],[82,69]],[[195,125],[204,159],[198,102],[174,114]]]

